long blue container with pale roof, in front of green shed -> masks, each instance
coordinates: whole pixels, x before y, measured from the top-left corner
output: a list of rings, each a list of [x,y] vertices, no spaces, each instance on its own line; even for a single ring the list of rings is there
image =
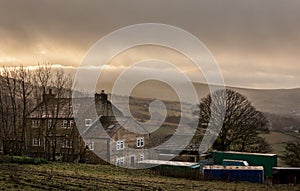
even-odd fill
[[[204,166],[203,175],[206,180],[264,182],[262,166]]]

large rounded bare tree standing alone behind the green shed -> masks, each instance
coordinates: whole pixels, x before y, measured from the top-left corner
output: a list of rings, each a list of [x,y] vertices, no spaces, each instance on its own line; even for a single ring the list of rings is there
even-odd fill
[[[218,90],[203,98],[200,103],[199,124],[203,128],[208,124],[212,126],[222,124],[222,129],[213,144],[214,149],[270,151],[270,146],[259,137],[260,131],[268,132],[267,118],[262,112],[257,111],[246,97],[233,90]]]

